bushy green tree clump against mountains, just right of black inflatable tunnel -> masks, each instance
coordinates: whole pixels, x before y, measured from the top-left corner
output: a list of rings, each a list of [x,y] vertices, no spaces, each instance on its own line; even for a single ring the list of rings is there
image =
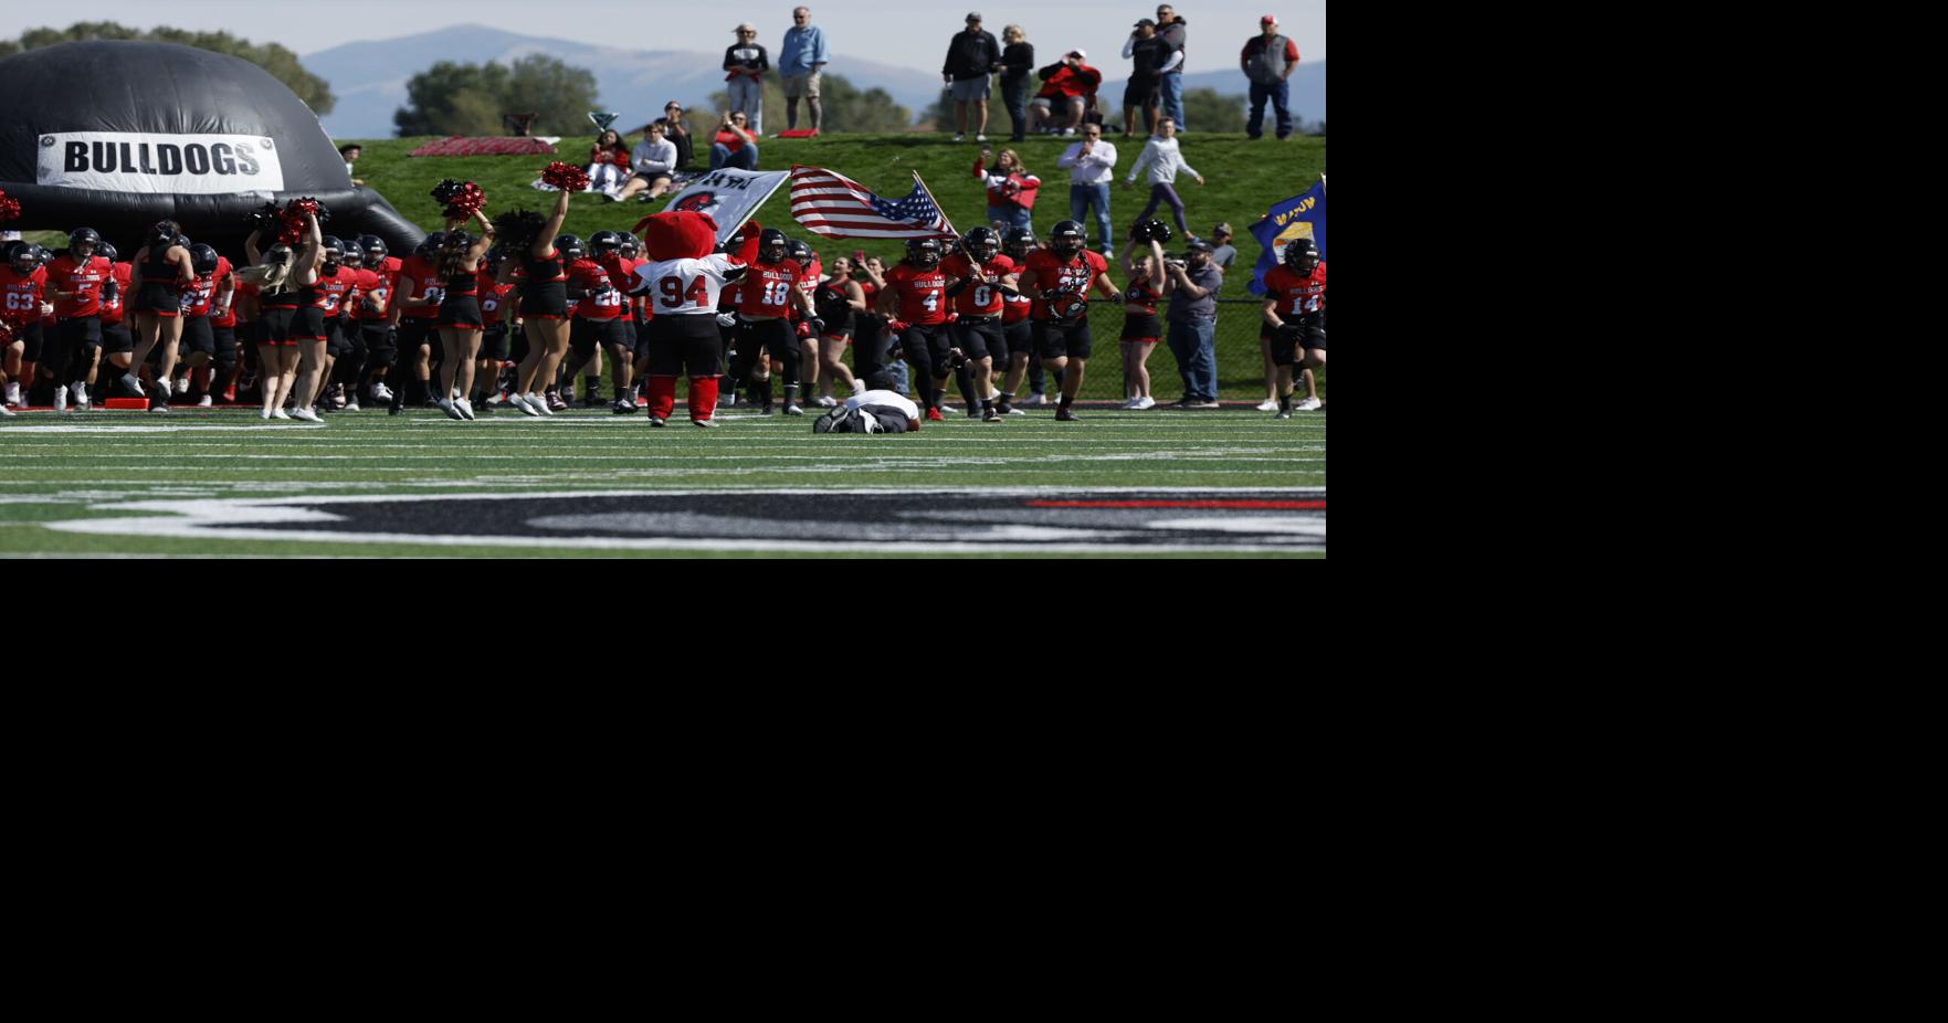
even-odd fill
[[[401,138],[503,134],[503,113],[536,113],[530,134],[582,134],[594,105],[596,76],[553,57],[522,57],[512,66],[440,60],[407,80],[392,123]]]

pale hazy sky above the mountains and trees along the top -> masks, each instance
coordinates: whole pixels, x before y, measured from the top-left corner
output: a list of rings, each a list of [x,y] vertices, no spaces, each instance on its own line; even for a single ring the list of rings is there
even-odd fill
[[[275,4],[265,0],[199,0],[195,4],[160,4],[156,0],[90,0],[74,18],[51,21],[16,21],[21,27],[68,27],[74,21],[117,21],[129,27],[173,25],[181,29],[228,31],[253,43],[281,43],[300,55],[353,43],[358,39],[393,39],[423,31],[483,23],[505,31],[551,39],[612,45],[633,51],[703,51],[721,53],[732,43],[730,29],[738,21],[758,25],[758,43],[777,53],[779,39],[791,27],[789,2],[734,0],[711,4],[723,16],[697,14],[695,0],[571,0],[545,4],[538,0],[331,0],[318,6]],[[1153,18],[1151,0],[1062,0],[1060,4],[1029,4],[1011,0],[822,0],[806,4],[812,23],[822,27],[834,51],[832,70],[843,74],[845,53],[859,53],[880,64],[908,66],[925,72],[941,70],[947,37],[962,27],[970,10],[982,12],[984,27],[1001,37],[1001,27],[1019,23],[1034,43],[1036,55],[1081,47],[1091,62],[1114,60],[1122,41],[1138,18]],[[1190,72],[1237,66],[1237,51],[1256,35],[1258,18],[1272,14],[1280,31],[1299,47],[1303,60],[1327,57],[1325,0],[1190,0],[1173,4],[1184,18],[1188,35],[1186,68]],[[35,4],[35,14],[49,6]],[[886,18],[888,10],[908,14]],[[565,16],[573,12],[573,16]],[[8,29],[8,35],[19,29]],[[468,60],[468,55],[454,55]],[[773,58],[775,60],[775,58]],[[411,68],[417,70],[417,68]]]

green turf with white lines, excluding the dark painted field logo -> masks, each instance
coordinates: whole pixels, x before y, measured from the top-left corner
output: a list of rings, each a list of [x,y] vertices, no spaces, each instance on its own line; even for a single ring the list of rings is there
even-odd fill
[[[0,481],[0,555],[1323,555],[1323,509],[1307,512],[1317,524],[1301,526],[1317,530],[1317,544],[1301,548],[1292,548],[1290,540],[1245,544],[1241,549],[1171,546],[1198,530],[1219,530],[1212,536],[1221,536],[1221,530],[1237,528],[1200,526],[1184,522],[1184,516],[1247,514],[1223,511],[1153,512],[1165,524],[1157,526],[1155,516],[1145,520],[1140,528],[1147,532],[1136,538],[1136,546],[1114,532],[1128,530],[1126,522],[1101,520],[1071,530],[1073,542],[1050,534],[1017,542],[990,528],[984,516],[968,518],[966,542],[958,532],[939,544],[925,542],[925,536],[947,536],[935,528],[919,534],[918,546],[847,540],[853,534],[843,520],[851,512],[840,514],[836,538],[830,528],[824,536],[812,528],[820,505],[836,499],[830,495],[914,495],[935,487],[1009,493],[1019,497],[1013,503],[1023,505],[1103,503],[1124,491],[1163,495],[1171,499],[1167,505],[1179,497],[1225,499],[1233,491],[1253,491],[1255,497],[1280,491],[1272,497],[1297,495],[1323,505],[1325,413],[1295,413],[1288,423],[1256,411],[1083,409],[1081,415],[1083,423],[1054,423],[1052,413],[1036,409],[1003,425],[955,417],[906,436],[814,436],[810,415],[760,417],[736,409],[725,409],[715,431],[680,421],[653,431],[641,415],[606,411],[553,419],[497,413],[479,423],[454,423],[438,411],[399,417],[362,411],[329,415],[323,427],[265,423],[244,409],[179,409],[168,417],[23,413],[0,421],[0,460],[8,466]],[[1305,491],[1295,491],[1299,487]],[[567,522],[547,530],[545,544],[532,546],[508,536],[510,530],[534,536],[532,520],[581,514],[586,505],[602,505],[604,499],[614,499],[614,505],[662,493],[715,491],[738,491],[740,505],[785,516],[775,530],[760,530],[768,546],[744,549],[707,540],[658,544],[656,536],[674,534],[656,522]],[[742,497],[744,491],[766,493]],[[452,503],[468,495],[526,495],[540,505],[520,503],[522,511],[512,512],[506,530],[487,530],[506,540],[479,544],[438,536],[466,526],[442,518],[448,512],[440,509],[421,512],[403,507],[425,509],[427,501],[460,507],[466,501]],[[191,518],[206,518],[210,509],[244,507],[251,499],[312,503],[380,497],[401,505],[397,522],[386,530],[390,540],[358,534],[321,540],[310,532],[290,538],[179,536]],[[879,501],[873,495],[867,499]],[[808,511],[773,509],[793,501],[806,503]],[[958,495],[921,495],[921,501],[947,514],[956,514],[951,509],[966,503]],[[327,514],[329,509],[323,505]],[[916,522],[921,518],[927,516],[916,516]],[[873,536],[906,540],[904,528],[896,522],[892,532]],[[427,532],[434,536],[421,536]]]

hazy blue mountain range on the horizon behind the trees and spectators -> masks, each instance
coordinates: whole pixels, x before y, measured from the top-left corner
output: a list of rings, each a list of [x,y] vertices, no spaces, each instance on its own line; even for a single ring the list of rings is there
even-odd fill
[[[588,68],[596,76],[596,95],[602,109],[621,111],[618,127],[645,125],[662,115],[662,103],[676,99],[686,107],[705,107],[709,94],[725,88],[721,53],[697,51],[633,51],[596,47],[571,39],[520,35],[487,25],[454,25],[438,31],[345,43],[304,55],[304,68],[331,82],[337,107],[319,117],[333,138],[392,138],[395,109],[405,105],[405,84],[438,60],[464,53],[469,62],[512,62],[532,53],[545,53],[571,66]],[[1105,78],[1120,70],[1122,60],[1105,60]],[[935,74],[896,68],[847,57],[836,62],[842,74],[861,90],[882,88],[894,103],[923,115],[941,94]],[[1184,74],[1184,88],[1216,88],[1223,94],[1245,94],[1245,76],[1235,70]],[[1105,82],[1101,95],[1108,107],[1122,103],[1122,80]],[[1120,113],[1120,111],[1118,111]],[[1292,113],[1301,123],[1327,117],[1327,64],[1301,62],[1292,72]],[[1007,115],[990,111],[990,123]],[[577,125],[584,129],[586,125]],[[1196,125],[1192,125],[1196,129]],[[590,133],[594,129],[588,129]],[[1003,129],[1005,131],[1005,129]]]

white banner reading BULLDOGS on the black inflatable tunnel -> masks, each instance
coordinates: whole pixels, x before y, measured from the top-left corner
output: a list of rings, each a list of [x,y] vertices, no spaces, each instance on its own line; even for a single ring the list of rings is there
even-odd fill
[[[244,134],[43,134],[35,183],[142,195],[284,191],[277,144]]]

